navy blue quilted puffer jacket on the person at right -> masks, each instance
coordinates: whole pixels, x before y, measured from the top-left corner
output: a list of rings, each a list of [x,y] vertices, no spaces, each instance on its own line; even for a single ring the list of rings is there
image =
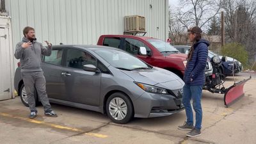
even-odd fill
[[[187,85],[204,85],[208,46],[209,42],[204,39],[201,39],[196,42],[196,44],[194,44],[194,52],[192,54],[191,60],[188,61],[186,65],[183,78]],[[191,81],[191,78],[193,81]]]

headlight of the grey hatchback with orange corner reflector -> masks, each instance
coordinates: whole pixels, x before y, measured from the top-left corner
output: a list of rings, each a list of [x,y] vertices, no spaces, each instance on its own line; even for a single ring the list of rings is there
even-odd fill
[[[159,88],[156,86],[150,86],[148,84],[143,84],[143,83],[137,83],[134,82],[137,86],[139,86],[142,90],[145,90],[145,92],[149,93],[162,93],[162,94],[167,94],[167,90],[164,88]]]

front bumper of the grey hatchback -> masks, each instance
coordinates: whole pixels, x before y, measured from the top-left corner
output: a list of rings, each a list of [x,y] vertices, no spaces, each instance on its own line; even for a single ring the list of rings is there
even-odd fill
[[[184,110],[182,98],[145,92],[134,102],[134,117],[167,116]]]

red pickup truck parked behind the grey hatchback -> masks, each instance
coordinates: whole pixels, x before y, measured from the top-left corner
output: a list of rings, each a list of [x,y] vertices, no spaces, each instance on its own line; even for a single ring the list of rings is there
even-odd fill
[[[183,79],[187,55],[180,53],[175,47],[163,40],[147,36],[101,35],[97,45],[122,49],[150,65],[169,70]],[[147,55],[140,54],[140,47],[147,49]],[[205,69],[205,76],[208,77],[211,74],[210,63],[209,67]]]

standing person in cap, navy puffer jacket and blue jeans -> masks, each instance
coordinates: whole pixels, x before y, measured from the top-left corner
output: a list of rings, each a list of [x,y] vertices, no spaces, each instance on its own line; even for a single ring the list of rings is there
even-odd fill
[[[184,73],[183,97],[182,103],[186,109],[187,120],[184,125],[178,127],[181,130],[191,130],[186,134],[189,137],[200,136],[202,125],[202,88],[205,83],[205,66],[208,56],[209,42],[202,39],[202,30],[193,27],[188,30],[190,42],[193,42],[189,49],[187,65]],[[190,100],[193,100],[193,109],[196,113],[196,123],[193,126],[193,111]]]

